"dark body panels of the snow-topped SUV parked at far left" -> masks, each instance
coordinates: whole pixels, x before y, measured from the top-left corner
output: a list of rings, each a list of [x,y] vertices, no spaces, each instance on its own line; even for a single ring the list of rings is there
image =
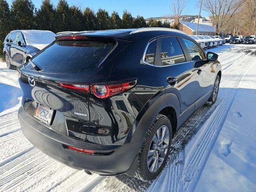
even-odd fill
[[[26,63],[29,58],[32,58],[33,56],[35,56],[40,50],[34,46],[26,45],[24,35],[22,34],[22,32],[20,30],[12,31],[9,34],[11,35],[16,32],[20,33],[24,44],[18,45],[18,42],[16,42],[15,44],[6,42],[6,39],[5,39],[4,44],[3,44],[3,46],[4,46],[3,52],[4,52],[4,55],[6,53],[8,54],[12,65],[20,66],[20,65]]]

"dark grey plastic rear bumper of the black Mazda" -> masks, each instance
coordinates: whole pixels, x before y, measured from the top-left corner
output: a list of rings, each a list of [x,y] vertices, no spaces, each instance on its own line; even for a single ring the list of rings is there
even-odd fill
[[[100,175],[117,175],[126,173],[134,176],[138,151],[141,142],[127,143],[122,146],[93,144],[59,134],[28,116],[22,107],[18,119],[26,138],[37,148],[55,160],[81,170],[89,170]],[[91,155],[74,152],[64,148],[65,145],[78,148],[113,151],[109,155]]]

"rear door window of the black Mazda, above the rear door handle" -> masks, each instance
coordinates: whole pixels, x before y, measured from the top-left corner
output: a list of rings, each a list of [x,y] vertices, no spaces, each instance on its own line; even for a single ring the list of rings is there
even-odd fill
[[[186,62],[184,53],[176,37],[162,38],[160,66]]]

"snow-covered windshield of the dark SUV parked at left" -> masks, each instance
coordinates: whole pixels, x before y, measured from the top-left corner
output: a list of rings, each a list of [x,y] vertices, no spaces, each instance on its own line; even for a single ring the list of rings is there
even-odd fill
[[[57,36],[54,32],[43,30],[22,30],[27,45],[50,44]]]

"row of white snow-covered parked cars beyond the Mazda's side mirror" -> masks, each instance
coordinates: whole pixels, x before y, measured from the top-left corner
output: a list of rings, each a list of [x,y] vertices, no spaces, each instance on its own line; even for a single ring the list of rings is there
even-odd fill
[[[212,48],[226,43],[224,39],[208,35],[190,35],[203,49]]]

